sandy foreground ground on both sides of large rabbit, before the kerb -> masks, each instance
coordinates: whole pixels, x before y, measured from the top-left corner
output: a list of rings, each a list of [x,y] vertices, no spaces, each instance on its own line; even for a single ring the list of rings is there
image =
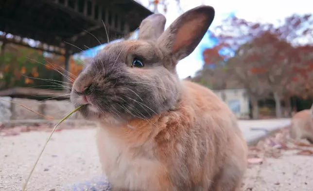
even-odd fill
[[[28,191],[87,191],[79,187],[91,188],[95,183],[106,190],[94,134],[94,128],[53,134]],[[49,133],[3,135],[0,135],[0,191],[20,191]],[[243,191],[313,191],[313,155],[310,155],[313,153],[297,154],[309,147],[290,146],[285,137],[286,130],[250,148]]]

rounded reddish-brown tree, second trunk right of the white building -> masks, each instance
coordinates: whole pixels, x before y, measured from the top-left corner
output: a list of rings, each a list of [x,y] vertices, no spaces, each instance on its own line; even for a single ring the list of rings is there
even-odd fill
[[[286,85],[295,76],[298,64],[297,49],[270,30],[263,32],[251,41],[252,47],[245,62],[254,65],[276,103],[276,116],[282,116],[281,100],[288,93]]]

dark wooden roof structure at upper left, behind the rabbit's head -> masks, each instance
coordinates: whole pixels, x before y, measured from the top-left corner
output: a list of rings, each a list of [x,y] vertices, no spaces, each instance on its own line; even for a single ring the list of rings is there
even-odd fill
[[[0,31],[16,36],[0,41],[72,55],[106,43],[104,25],[110,39],[119,38],[150,14],[135,0],[0,0]]]

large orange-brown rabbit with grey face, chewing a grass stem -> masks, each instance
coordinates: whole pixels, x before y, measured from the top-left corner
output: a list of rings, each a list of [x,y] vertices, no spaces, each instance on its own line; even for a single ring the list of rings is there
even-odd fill
[[[164,31],[154,14],[138,40],[107,45],[73,84],[71,101],[99,124],[97,144],[112,191],[239,191],[247,146],[237,119],[209,89],[179,80],[214,18],[193,8]],[[192,63],[190,63],[192,65]]]

